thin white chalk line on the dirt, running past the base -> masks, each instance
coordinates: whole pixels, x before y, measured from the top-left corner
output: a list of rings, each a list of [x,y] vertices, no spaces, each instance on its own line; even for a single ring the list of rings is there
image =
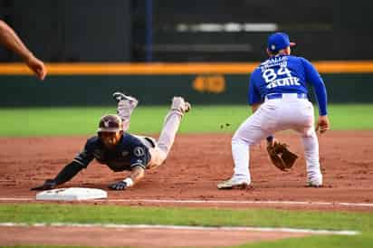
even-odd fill
[[[35,201],[30,197],[0,197],[0,202],[13,201]],[[85,201],[85,200],[81,200]],[[93,202],[110,203],[156,203],[156,204],[226,204],[226,205],[335,205],[335,206],[353,206],[353,207],[373,207],[370,203],[339,203],[339,202],[307,202],[307,201],[234,201],[234,200],[167,200],[167,199],[96,199],[88,200]]]

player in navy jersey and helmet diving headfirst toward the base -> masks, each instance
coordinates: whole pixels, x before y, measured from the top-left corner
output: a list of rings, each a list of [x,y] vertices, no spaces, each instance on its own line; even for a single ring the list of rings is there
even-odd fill
[[[105,115],[100,119],[97,136],[89,138],[84,149],[71,163],[53,179],[47,179],[42,186],[33,190],[53,189],[72,179],[81,169],[87,168],[93,159],[114,172],[130,171],[128,177],[109,185],[110,189],[123,190],[134,186],[144,176],[145,170],[162,165],[170,151],[184,114],[191,109],[182,97],[174,97],[165,118],[158,140],[151,137],[131,135],[129,120],[138,100],[121,92],[113,97],[118,102],[118,115]]]

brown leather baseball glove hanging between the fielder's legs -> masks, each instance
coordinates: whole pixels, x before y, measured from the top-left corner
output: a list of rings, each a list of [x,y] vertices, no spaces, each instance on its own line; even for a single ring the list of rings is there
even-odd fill
[[[267,146],[267,152],[273,165],[282,171],[290,169],[298,158],[298,156],[292,153],[288,147],[287,144],[277,141],[275,141],[273,145],[270,144]]]

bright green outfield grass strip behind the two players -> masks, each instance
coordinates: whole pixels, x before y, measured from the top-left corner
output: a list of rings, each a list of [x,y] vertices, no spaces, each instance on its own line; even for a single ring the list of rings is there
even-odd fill
[[[129,132],[159,133],[167,110],[168,106],[139,106]],[[331,129],[373,129],[373,105],[330,105],[329,112]],[[115,113],[115,108],[0,109],[0,137],[91,135],[107,113]],[[248,106],[196,105],[187,113],[180,133],[233,133],[250,114]]]

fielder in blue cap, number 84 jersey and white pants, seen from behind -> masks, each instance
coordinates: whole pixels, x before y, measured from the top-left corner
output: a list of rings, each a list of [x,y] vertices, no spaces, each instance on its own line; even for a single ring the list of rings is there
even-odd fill
[[[273,144],[273,133],[284,129],[293,129],[301,135],[307,185],[322,186],[316,131],[323,133],[330,128],[327,91],[311,62],[291,55],[293,45],[295,43],[290,42],[286,33],[269,36],[266,51],[269,59],[259,64],[250,78],[249,104],[253,115],[241,124],[232,138],[234,175],[218,184],[219,189],[250,186],[250,147],[263,138],[267,138],[269,145]],[[307,84],[314,89],[319,106],[316,129]]]

